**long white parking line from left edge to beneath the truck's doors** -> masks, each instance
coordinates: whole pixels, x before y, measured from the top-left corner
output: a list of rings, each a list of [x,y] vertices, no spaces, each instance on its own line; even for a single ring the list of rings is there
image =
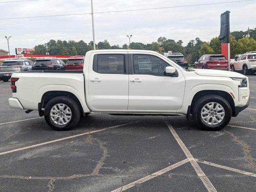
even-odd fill
[[[42,145],[46,145],[46,144],[54,143],[54,142],[57,142],[57,141],[62,141],[62,140],[74,138],[74,137],[88,135],[88,134],[91,134],[91,133],[96,133],[96,132],[100,132],[100,131],[104,131],[104,130],[108,130],[108,129],[112,129],[112,128],[116,128],[116,127],[120,127],[120,126],[125,126],[125,125],[129,125],[129,124],[133,124],[133,123],[136,123],[136,122],[130,122],[130,123],[126,123],[126,124],[116,125],[116,126],[107,127],[107,128],[100,129],[100,130],[90,131],[90,132],[86,132],[86,133],[82,133],[82,134],[78,134],[78,135],[73,135],[73,136],[64,137],[64,138],[60,138],[60,139],[56,139],[56,140],[52,140],[52,141],[48,141],[48,142],[44,142],[44,143],[39,143],[39,144],[27,146],[27,147],[22,147],[22,148],[10,150],[10,151],[2,152],[2,153],[0,153],[0,155],[4,155],[4,154],[16,152],[16,151],[21,151],[21,150],[25,150],[25,149],[29,149],[29,148],[33,148],[33,147],[38,147],[38,146],[42,146]]]

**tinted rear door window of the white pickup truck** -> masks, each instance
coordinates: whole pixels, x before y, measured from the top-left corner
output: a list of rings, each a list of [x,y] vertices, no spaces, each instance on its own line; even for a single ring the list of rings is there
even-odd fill
[[[93,70],[102,74],[124,74],[124,55],[98,54],[95,56]]]

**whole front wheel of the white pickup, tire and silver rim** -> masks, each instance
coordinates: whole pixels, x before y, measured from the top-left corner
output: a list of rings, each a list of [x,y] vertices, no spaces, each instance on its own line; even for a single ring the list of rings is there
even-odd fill
[[[192,114],[203,130],[218,131],[230,122],[232,108],[222,96],[208,94],[195,102]]]

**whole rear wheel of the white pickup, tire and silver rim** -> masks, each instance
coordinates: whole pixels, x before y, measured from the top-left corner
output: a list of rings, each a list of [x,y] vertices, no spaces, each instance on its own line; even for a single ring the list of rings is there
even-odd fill
[[[73,98],[58,96],[46,104],[44,119],[54,130],[70,130],[80,120],[79,105]]]

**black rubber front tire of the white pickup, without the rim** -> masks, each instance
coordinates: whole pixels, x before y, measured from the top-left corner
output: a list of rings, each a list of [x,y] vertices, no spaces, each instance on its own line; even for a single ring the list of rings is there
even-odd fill
[[[210,102],[216,102],[224,108],[225,116],[219,124],[216,124],[216,125],[206,124],[206,122],[204,122],[204,120],[201,117],[202,108]],[[218,130],[221,130],[222,128],[226,127],[226,125],[230,122],[230,119],[232,116],[232,108],[231,108],[229,102],[222,96],[219,96],[216,94],[208,94],[208,95],[202,96],[195,102],[195,104],[192,107],[192,114],[193,114],[195,122],[203,130],[218,131]]]

